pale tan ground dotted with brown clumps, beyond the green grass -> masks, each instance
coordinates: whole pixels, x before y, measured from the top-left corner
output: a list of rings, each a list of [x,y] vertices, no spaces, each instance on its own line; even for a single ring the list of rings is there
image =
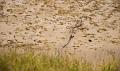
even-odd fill
[[[0,0],[0,47],[119,57],[120,1]]]

